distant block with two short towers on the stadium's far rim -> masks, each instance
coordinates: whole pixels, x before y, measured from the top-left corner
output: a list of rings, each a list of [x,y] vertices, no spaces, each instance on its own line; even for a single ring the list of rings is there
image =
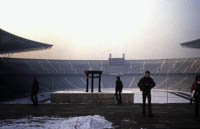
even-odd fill
[[[112,54],[109,54],[108,62],[109,65],[123,65],[125,64],[125,54],[123,53],[122,58],[112,58]]]

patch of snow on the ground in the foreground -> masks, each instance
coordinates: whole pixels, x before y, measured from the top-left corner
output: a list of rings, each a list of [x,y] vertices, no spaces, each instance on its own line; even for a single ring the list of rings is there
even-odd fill
[[[70,118],[25,117],[0,120],[0,129],[110,129],[112,123],[103,116],[80,116]]]

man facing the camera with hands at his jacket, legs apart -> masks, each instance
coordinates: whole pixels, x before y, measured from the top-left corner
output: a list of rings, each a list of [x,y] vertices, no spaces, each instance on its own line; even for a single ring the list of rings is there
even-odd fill
[[[154,80],[150,77],[150,72],[146,71],[145,76],[140,79],[138,82],[138,87],[142,91],[143,97],[143,115],[146,116],[146,98],[148,98],[148,111],[149,116],[153,117],[152,109],[151,109],[151,89],[155,86]]]

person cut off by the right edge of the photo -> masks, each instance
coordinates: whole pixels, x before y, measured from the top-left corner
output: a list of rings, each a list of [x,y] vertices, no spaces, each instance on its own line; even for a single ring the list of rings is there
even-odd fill
[[[195,98],[195,116],[199,116],[199,101],[200,101],[200,75],[196,77],[194,82],[194,98]]]

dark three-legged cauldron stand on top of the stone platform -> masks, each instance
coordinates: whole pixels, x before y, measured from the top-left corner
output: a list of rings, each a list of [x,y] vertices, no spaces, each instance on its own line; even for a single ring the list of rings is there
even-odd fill
[[[94,89],[94,78],[99,78],[99,92],[101,92],[101,75],[102,75],[102,71],[94,71],[94,70],[86,70],[85,74],[86,74],[86,92],[88,92],[88,83],[89,83],[89,78],[92,79],[92,84],[91,84],[91,92],[93,93],[93,89]],[[90,76],[91,74],[91,76]],[[95,74],[98,74],[98,76],[94,76]]]

